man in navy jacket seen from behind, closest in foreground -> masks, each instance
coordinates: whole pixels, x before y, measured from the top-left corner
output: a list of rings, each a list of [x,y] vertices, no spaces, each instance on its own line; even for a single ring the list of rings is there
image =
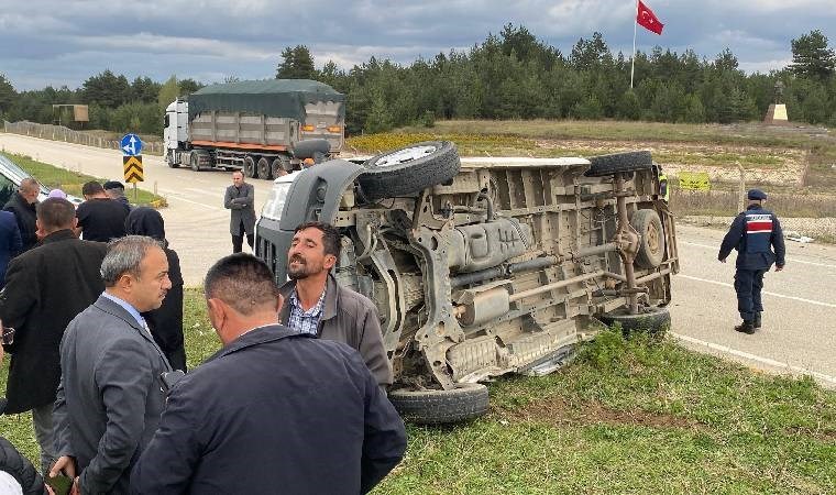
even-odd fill
[[[206,276],[223,348],[173,388],[131,476],[136,494],[366,493],[406,431],[360,355],[276,323],[282,298],[249,254]]]

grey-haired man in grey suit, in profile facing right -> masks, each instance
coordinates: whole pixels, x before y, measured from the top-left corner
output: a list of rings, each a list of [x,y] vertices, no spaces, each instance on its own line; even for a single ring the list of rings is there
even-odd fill
[[[172,283],[163,248],[128,235],[108,244],[105,293],[69,322],[61,342],[54,425],[58,460],[80,493],[128,493],[131,468],[160,424],[172,371],[141,314],[163,304]],[[78,476],[77,476],[78,474]]]

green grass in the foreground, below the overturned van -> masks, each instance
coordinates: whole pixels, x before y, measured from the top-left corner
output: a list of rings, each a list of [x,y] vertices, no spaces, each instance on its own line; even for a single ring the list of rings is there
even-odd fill
[[[204,308],[200,290],[188,289],[193,366],[219,348]],[[376,493],[813,494],[836,486],[836,393],[810,378],[608,331],[559,372],[502,377],[490,393],[491,410],[479,420],[408,426],[406,459]],[[0,431],[35,459],[26,415],[1,417]]]

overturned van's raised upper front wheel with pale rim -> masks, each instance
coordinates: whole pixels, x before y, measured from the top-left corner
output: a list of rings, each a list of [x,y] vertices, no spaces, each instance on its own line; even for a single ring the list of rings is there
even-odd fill
[[[428,141],[383,153],[365,162],[358,182],[371,199],[405,196],[455,177],[461,167],[455,145]]]

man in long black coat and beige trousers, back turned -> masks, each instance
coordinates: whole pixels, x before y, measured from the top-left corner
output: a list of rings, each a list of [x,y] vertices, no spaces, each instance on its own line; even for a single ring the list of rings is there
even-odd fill
[[[58,346],[67,323],[105,289],[99,268],[107,246],[79,241],[76,210],[66,199],[37,206],[43,241],[12,260],[0,292],[0,318],[16,329],[9,366],[7,413],[32,410],[42,468],[54,460],[53,404],[61,378]],[[45,472],[45,471],[42,471]]]

